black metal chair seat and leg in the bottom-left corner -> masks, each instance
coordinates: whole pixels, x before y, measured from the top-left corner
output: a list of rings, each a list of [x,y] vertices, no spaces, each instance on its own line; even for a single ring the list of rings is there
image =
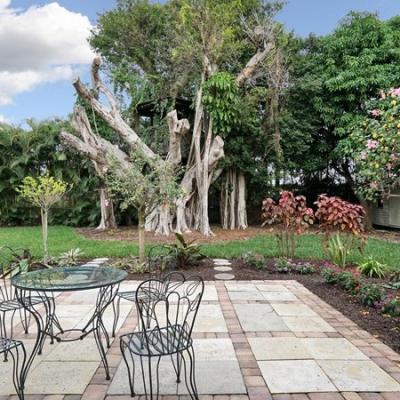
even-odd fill
[[[25,361],[26,351],[24,344],[19,340],[11,340],[0,337],[0,354],[6,358],[11,355],[13,360],[13,383],[19,400],[24,400],[25,386]]]

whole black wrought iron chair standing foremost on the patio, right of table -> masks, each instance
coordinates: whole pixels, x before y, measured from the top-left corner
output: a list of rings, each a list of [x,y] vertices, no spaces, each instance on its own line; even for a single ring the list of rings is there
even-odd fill
[[[181,381],[183,367],[190,398],[198,399],[192,330],[203,293],[204,282],[201,278],[185,278],[180,272],[172,272],[162,280],[149,279],[139,285],[136,305],[142,328],[120,338],[132,397],[135,396],[135,358],[140,361],[146,399],[158,399],[160,361],[167,356],[171,358],[177,384]],[[152,371],[154,359],[155,382]]]

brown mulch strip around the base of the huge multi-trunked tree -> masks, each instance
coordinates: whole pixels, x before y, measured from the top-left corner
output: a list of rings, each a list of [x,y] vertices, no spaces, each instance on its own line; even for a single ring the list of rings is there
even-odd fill
[[[214,236],[205,237],[200,232],[185,233],[183,236],[185,240],[195,240],[197,243],[212,243],[212,242],[223,242],[231,240],[246,240],[254,236],[265,234],[266,229],[252,226],[246,230],[236,229],[227,230],[222,229],[219,226],[213,226],[212,231]],[[136,226],[120,227],[117,229],[109,229],[107,231],[100,231],[94,228],[78,228],[77,232],[85,236],[88,239],[97,240],[123,240],[123,241],[137,241],[138,232]],[[173,243],[175,242],[175,236],[173,234],[169,236],[156,235],[154,232],[146,232],[146,243]]]

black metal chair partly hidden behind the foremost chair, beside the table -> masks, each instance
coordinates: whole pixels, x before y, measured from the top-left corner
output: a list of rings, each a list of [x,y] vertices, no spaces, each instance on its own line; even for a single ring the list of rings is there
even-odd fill
[[[153,246],[148,253],[147,260],[147,274],[149,279],[162,278],[162,275],[171,270],[171,259],[170,259],[170,250],[165,246]],[[143,293],[143,295],[145,295]],[[136,301],[136,290],[125,290],[119,291],[115,296],[113,301],[113,314],[114,314],[114,322],[112,329],[112,337],[115,337],[115,332],[117,330],[118,320],[120,316],[120,307],[121,300],[126,300],[131,303]]]

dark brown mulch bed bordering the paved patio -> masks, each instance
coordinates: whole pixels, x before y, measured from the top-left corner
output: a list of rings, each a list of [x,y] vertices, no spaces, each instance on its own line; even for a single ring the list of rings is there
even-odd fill
[[[299,262],[299,260],[296,261]],[[309,260],[307,262],[310,263]],[[317,261],[312,263],[318,271],[320,263]],[[182,272],[199,275],[204,280],[214,280],[215,271],[212,266],[212,261],[207,259]],[[393,350],[400,352],[400,318],[389,317],[382,314],[379,309],[363,306],[355,296],[345,292],[339,286],[326,284],[317,272],[311,275],[280,274],[273,271],[272,266],[273,260],[270,260],[266,270],[256,270],[246,266],[241,259],[235,259],[232,262],[232,273],[237,280],[296,280],[362,329],[370,332]],[[147,278],[146,275],[130,275],[130,279]]]

